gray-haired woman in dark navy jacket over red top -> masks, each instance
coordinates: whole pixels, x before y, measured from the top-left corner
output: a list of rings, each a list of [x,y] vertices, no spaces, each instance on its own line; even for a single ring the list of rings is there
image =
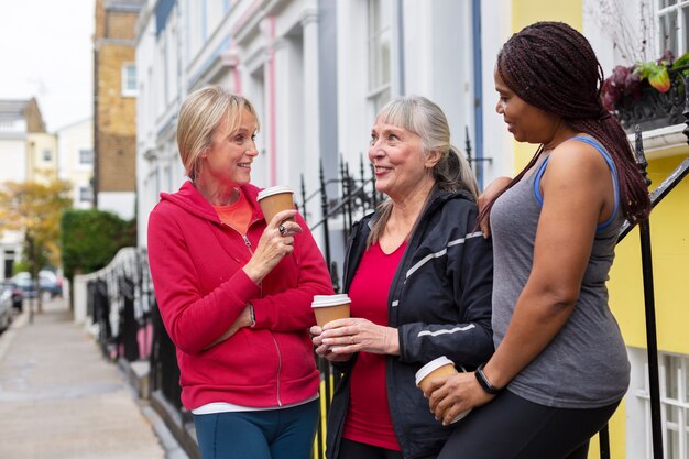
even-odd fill
[[[311,327],[342,371],[328,419],[330,459],[434,458],[452,430],[415,373],[446,356],[474,369],[493,352],[491,244],[477,230],[477,183],[423,97],[381,109],[369,160],[387,199],[352,229],[344,262],[351,318]]]

